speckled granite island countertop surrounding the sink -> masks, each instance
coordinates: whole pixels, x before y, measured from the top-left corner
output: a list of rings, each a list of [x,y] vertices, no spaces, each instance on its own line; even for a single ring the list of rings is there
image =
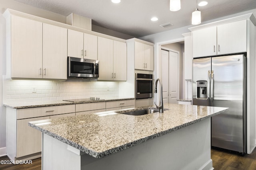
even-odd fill
[[[122,109],[120,112],[148,107]],[[165,104],[164,113],[126,115],[106,111],[29,122],[29,126],[95,158],[113,154],[197,123],[228,108]]]

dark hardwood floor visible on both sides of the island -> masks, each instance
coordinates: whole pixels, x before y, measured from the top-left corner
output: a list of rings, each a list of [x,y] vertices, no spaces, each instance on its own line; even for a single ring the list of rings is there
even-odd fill
[[[240,156],[212,149],[211,157],[214,170],[256,170],[256,150]],[[10,159],[2,156],[0,160]],[[32,164],[0,164],[0,170],[41,170],[41,158],[32,160]]]

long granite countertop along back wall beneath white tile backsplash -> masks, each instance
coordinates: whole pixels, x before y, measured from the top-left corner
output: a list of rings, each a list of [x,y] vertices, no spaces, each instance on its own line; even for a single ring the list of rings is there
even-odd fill
[[[68,104],[110,102],[110,101],[133,100],[133,99],[134,98],[127,98],[127,97],[104,97],[104,98],[100,98],[100,100],[76,99],[75,102],[60,100],[60,101],[44,101],[44,102],[4,103],[3,106],[10,107],[12,109],[24,109],[24,108],[32,108],[32,107],[60,106],[60,105],[68,105]]]

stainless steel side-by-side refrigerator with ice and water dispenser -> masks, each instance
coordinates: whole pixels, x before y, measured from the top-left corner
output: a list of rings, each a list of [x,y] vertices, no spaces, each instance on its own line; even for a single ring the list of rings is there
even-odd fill
[[[246,57],[193,60],[193,105],[229,107],[212,117],[212,147],[246,153]]]

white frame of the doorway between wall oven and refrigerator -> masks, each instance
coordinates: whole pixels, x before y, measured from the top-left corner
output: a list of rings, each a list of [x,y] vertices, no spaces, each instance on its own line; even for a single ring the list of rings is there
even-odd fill
[[[182,37],[182,38],[177,38],[177,39],[171,39],[171,40],[167,40],[167,41],[162,41],[162,42],[158,42],[156,43],[155,45],[155,49],[156,49],[156,52],[155,52],[155,56],[154,57],[154,63],[155,63],[155,66],[156,68],[154,69],[154,79],[156,80],[156,78],[161,78],[162,79],[162,69],[161,69],[161,62],[162,59],[161,59],[161,49],[162,49],[162,45],[164,44],[170,44],[170,43],[178,43],[180,41],[185,41],[185,37]],[[155,94],[154,95],[154,102],[157,102],[157,99],[159,98],[159,93]]]

